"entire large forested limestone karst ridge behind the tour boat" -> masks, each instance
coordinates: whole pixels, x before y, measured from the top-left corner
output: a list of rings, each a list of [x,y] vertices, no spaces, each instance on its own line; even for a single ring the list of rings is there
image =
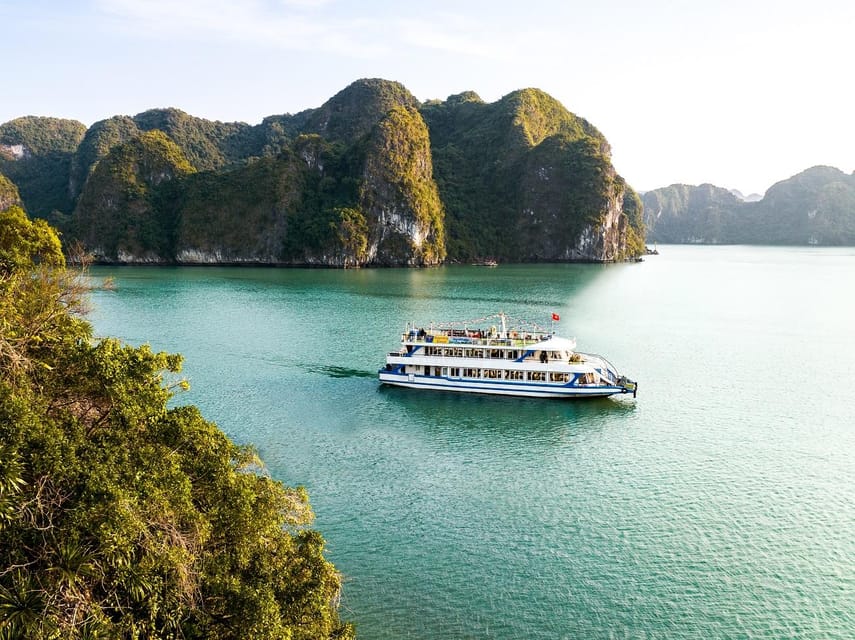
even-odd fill
[[[89,128],[21,117],[0,125],[3,202],[106,263],[611,262],[645,249],[641,200],[606,138],[537,89],[422,103],[363,79],[258,125],[177,109]]]

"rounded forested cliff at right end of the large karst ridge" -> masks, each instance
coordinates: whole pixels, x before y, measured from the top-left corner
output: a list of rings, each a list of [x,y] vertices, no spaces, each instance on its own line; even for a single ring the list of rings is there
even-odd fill
[[[449,257],[508,261],[622,259],[635,242],[609,238],[626,191],[605,137],[537,89],[493,104],[473,93],[422,107],[448,214]],[[613,219],[615,218],[615,219]],[[598,227],[593,243],[582,237]],[[633,228],[643,237],[643,228]],[[620,235],[621,232],[619,232]]]

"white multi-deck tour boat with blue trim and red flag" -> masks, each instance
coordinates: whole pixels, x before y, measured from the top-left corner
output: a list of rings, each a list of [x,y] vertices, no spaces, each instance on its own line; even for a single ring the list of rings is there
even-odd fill
[[[554,321],[557,314],[552,315]],[[504,313],[468,322],[407,324],[401,348],[386,356],[380,382],[436,391],[532,398],[631,393],[638,384],[576,341]]]

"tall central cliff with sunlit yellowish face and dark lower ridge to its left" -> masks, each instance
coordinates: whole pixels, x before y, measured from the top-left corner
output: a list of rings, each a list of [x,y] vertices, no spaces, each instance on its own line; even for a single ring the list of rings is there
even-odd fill
[[[434,265],[445,256],[427,128],[400,85],[357,83],[290,150],[185,183],[176,261]],[[381,91],[382,90],[382,91]],[[382,95],[374,96],[375,91]],[[406,98],[406,96],[404,96]],[[380,110],[381,103],[385,110]]]

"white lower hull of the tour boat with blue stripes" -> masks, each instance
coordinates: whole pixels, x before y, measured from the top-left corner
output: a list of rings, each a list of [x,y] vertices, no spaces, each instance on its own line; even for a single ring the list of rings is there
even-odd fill
[[[442,377],[413,376],[379,372],[380,382],[410,389],[434,391],[457,391],[462,393],[485,393],[503,396],[525,396],[529,398],[603,398],[619,393],[631,393],[623,387],[574,387],[569,385],[542,385],[532,382],[477,382],[474,380],[451,380]]]

